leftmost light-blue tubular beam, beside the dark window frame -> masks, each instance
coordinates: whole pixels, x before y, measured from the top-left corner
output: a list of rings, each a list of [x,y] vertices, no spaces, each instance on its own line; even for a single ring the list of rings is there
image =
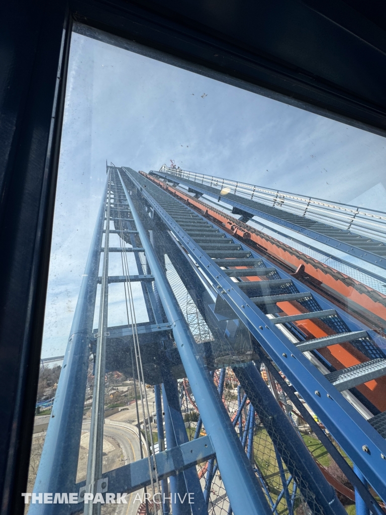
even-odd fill
[[[107,186],[104,188],[59,377],[34,492],[74,492],[93,330]],[[31,504],[30,515],[59,514],[66,505]]]

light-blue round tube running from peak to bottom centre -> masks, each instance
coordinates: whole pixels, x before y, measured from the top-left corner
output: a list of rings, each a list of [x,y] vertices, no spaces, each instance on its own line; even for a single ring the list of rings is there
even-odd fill
[[[205,425],[205,430],[212,439],[221,477],[233,510],[236,515],[241,515],[245,512],[248,512],[249,515],[269,515],[271,510],[264,493],[241,447],[240,440],[229,415],[218,397],[218,392],[200,356],[197,343],[190,333],[181,308],[165,277],[164,270],[156,259],[153,247],[148,240],[146,231],[136,213],[134,203],[123,181],[122,186],[124,187],[132,216],[135,219],[135,225],[141,237],[142,245],[145,248],[146,257],[155,278],[165,313],[168,320],[173,321],[174,341],[176,341],[181,361]]]

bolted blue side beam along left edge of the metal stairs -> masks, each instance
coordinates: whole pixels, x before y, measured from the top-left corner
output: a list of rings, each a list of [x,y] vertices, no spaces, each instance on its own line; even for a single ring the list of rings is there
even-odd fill
[[[154,200],[149,191],[144,190],[141,183],[133,177],[133,174],[128,173],[128,176],[164,221],[168,229],[178,236],[191,258],[199,264],[200,268],[205,270],[206,277],[210,283],[218,288],[218,296],[229,304],[237,318],[246,325],[273,362],[288,377],[288,380],[299,391],[303,399],[323,421],[328,431],[339,442],[350,459],[356,463],[378,495],[385,501],[385,460],[382,458],[382,456],[386,455],[385,440],[346,401],[326,377],[310,363],[307,357],[275,327],[275,324],[267,318],[258,306],[240,288],[234,287],[235,283],[226,276],[226,273],[216,264],[215,260],[210,258],[208,253]],[[164,194],[167,195],[167,193]],[[178,201],[176,200],[176,202]],[[182,202],[180,203],[182,204]],[[191,213],[207,222],[196,212],[191,210]],[[214,225],[214,227],[218,232],[223,232],[217,226]],[[225,232],[223,234],[228,236]],[[259,258],[268,267],[272,267],[272,263],[261,258],[261,256],[243,243],[235,243],[241,249],[248,251],[249,255],[253,256],[253,258]],[[286,278],[288,276],[285,272],[280,271],[280,277]],[[306,288],[300,281],[292,279],[292,283],[300,293],[306,291]],[[312,294],[312,297],[323,310],[328,310],[331,307],[331,304],[320,295]],[[377,344],[380,346],[384,345],[384,339],[376,335],[374,331],[365,328],[363,324],[343,313],[339,308],[336,308],[336,311],[351,331],[366,330],[367,334]],[[346,431],[347,427],[350,427],[349,432]],[[364,445],[369,448],[370,452],[367,453],[362,450]]]

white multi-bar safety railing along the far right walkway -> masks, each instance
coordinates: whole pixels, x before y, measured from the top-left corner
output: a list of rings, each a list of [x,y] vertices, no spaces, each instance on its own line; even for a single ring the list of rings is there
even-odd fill
[[[225,196],[229,193],[280,208],[342,230],[353,231],[386,242],[386,213],[354,205],[297,195],[163,165],[160,172],[210,186]],[[250,204],[249,204],[250,205]],[[258,206],[256,206],[258,209]]]

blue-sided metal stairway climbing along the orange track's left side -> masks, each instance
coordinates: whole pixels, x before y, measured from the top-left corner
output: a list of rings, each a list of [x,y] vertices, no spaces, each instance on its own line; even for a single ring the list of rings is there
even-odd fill
[[[285,373],[315,413],[318,414],[318,417],[320,417],[331,434],[334,435],[343,449],[357,464],[358,468],[361,468],[362,473],[378,494],[384,497],[383,477],[385,462],[383,456],[385,455],[385,442],[381,435],[359,415],[358,411],[337,392],[337,389],[338,391],[343,391],[360,385],[362,382],[367,381],[367,377],[384,375],[384,354],[380,350],[384,347],[383,338],[380,338],[378,334],[369,330],[363,324],[358,323],[357,320],[346,313],[337,310],[330,303],[326,302],[324,298],[317,294],[311,294],[300,281],[289,277],[288,274],[277,269],[277,267],[277,276],[274,276],[272,268],[275,267],[272,263],[259,256],[250,247],[240,243],[235,238],[230,238],[229,234],[222,231],[203,216],[200,216],[197,212],[191,210],[187,205],[184,205],[177,199],[172,199],[170,195],[160,188],[152,186],[150,181],[138,174],[133,174],[131,170],[127,171],[130,172],[130,180],[135,183],[143,197],[146,198],[151,208],[160,216],[169,230],[176,235],[180,245],[185,249],[185,252],[189,253],[192,261],[199,265],[199,269],[205,270],[203,273],[209,284],[213,289],[217,290],[216,305],[219,307],[218,313],[220,317],[220,310],[224,309],[224,305],[232,308],[233,315],[229,314],[228,318],[234,316],[242,320],[261,344],[261,347],[269,354],[280,370]],[[145,185],[146,190],[143,187]],[[206,240],[205,236],[207,237]],[[255,268],[268,268],[266,272],[268,275],[271,275],[271,279],[276,280],[277,278],[282,280],[280,285],[277,284],[275,286],[283,288],[285,286],[284,283],[287,281],[286,284],[289,290],[287,290],[287,293],[282,291],[276,295],[274,291],[269,291],[269,295],[262,295],[261,289],[267,287],[264,284],[267,283],[266,281],[263,281],[261,286],[256,282],[252,282],[248,286],[241,283],[241,287],[234,288],[235,283],[230,280],[230,276],[235,276],[235,270],[220,268],[220,266],[227,266],[230,262],[224,262],[224,260],[229,260],[231,257],[239,260],[232,263],[238,267],[246,267],[250,263],[254,270],[250,271],[249,274],[253,276],[256,275]],[[216,262],[219,266],[216,266]],[[240,286],[240,283],[237,283],[237,285]],[[246,295],[248,290],[245,290],[245,287],[255,288],[255,291],[248,296]],[[260,291],[256,291],[259,287],[261,288]],[[278,295],[283,297],[278,298]],[[287,295],[286,299],[284,295]],[[277,324],[273,323],[272,319],[269,319],[264,314],[264,311],[269,314],[267,307],[271,307],[272,304],[277,305],[276,302],[280,300],[290,300],[291,298],[297,298],[298,301],[303,303],[307,308],[304,311],[313,312],[310,318],[315,315],[318,318],[324,316],[326,317],[324,320],[330,323],[341,320],[343,323],[341,323],[340,328],[335,323],[334,329],[337,336],[315,339],[313,342],[308,340],[306,344],[302,344],[302,338],[299,334],[297,338],[291,338],[293,334],[289,334],[289,338],[285,338],[283,332],[277,330]],[[259,307],[262,307],[264,311],[261,311]],[[332,317],[329,312],[331,308],[334,308],[336,313]],[[293,316],[292,320],[296,320],[296,316]],[[291,323],[291,320],[288,319],[286,322]],[[364,331],[366,334],[361,331]],[[321,347],[333,344],[335,341],[342,341],[340,339],[341,336],[338,336],[339,333],[345,333],[345,341],[354,340],[356,345],[359,344],[364,347],[370,345],[376,354],[371,355],[367,366],[364,365],[348,370],[348,372],[346,370],[341,373],[335,372],[323,376],[317,368],[311,365],[308,359],[305,359],[303,352],[309,352],[310,349],[317,351]],[[356,338],[358,338],[357,341],[355,341]],[[294,342],[296,342],[296,346]],[[302,345],[304,345],[304,349],[302,349]],[[365,351],[363,347],[362,351]],[[366,375],[365,369],[367,367],[377,368],[378,365],[377,372],[374,371],[372,375]],[[363,372],[364,375],[362,375]],[[382,416],[380,414],[378,417],[374,417],[374,419],[379,419]],[[375,425],[374,419],[371,420],[373,425]],[[346,427],[350,427],[349,435],[347,435]],[[369,452],[367,452],[367,449]]]

